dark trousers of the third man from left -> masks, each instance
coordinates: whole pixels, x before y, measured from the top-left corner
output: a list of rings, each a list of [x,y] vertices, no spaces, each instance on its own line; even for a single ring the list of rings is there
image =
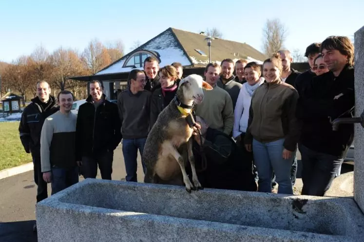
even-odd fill
[[[111,180],[113,173],[114,151],[105,151],[92,157],[82,157],[81,173],[84,178],[96,178],[97,165],[100,168],[101,178]]]

